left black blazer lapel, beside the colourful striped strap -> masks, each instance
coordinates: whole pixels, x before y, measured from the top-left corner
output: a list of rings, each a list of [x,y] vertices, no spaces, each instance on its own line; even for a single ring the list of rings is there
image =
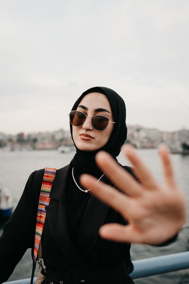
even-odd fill
[[[70,165],[58,170],[56,173],[50,193],[50,204],[45,207],[46,218],[53,238],[66,257],[77,267],[92,270],[82,254],[71,242],[69,236],[66,199],[66,177],[69,169]]]

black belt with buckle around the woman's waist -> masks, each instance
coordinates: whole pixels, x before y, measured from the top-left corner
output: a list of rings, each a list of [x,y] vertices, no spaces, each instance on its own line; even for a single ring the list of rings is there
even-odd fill
[[[56,272],[50,272],[50,274],[51,273]],[[123,262],[114,267],[98,271],[70,269],[67,273],[58,273],[48,276],[43,280],[42,284],[115,284],[126,280],[128,277],[126,263]]]

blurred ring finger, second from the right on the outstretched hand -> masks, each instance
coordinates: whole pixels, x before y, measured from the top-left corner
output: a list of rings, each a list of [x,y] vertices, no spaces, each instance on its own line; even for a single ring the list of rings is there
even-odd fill
[[[144,162],[141,161],[139,156],[137,155],[136,151],[133,149],[132,146],[127,145],[123,146],[123,152],[127,156],[127,158],[131,161],[134,166],[134,172],[136,176],[139,178],[141,183],[149,189],[158,189],[158,184],[153,175],[151,174],[150,170]]]

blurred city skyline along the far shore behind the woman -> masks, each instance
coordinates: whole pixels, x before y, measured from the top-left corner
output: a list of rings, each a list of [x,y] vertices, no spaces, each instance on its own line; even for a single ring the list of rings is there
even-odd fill
[[[131,143],[137,149],[157,148],[161,143],[164,143],[170,147],[172,152],[180,153],[181,151],[188,151],[189,130],[161,132],[157,129],[129,126],[125,143]],[[4,135],[0,132],[0,148],[5,147],[6,150],[58,149],[63,145],[69,145],[71,149],[72,147],[74,149],[70,131],[63,131],[63,129],[53,132],[18,133],[17,135]],[[65,147],[58,150],[70,151],[69,148],[65,149]]]

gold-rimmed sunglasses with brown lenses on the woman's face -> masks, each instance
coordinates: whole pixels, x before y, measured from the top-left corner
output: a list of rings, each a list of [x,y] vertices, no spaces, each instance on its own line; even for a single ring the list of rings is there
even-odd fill
[[[82,126],[87,117],[90,117],[78,110],[72,110],[68,115],[70,116],[71,124],[74,126]],[[104,131],[107,128],[108,123],[115,123],[113,121],[110,121],[110,119],[105,115],[101,114],[93,115],[90,118],[92,127],[97,131]]]

